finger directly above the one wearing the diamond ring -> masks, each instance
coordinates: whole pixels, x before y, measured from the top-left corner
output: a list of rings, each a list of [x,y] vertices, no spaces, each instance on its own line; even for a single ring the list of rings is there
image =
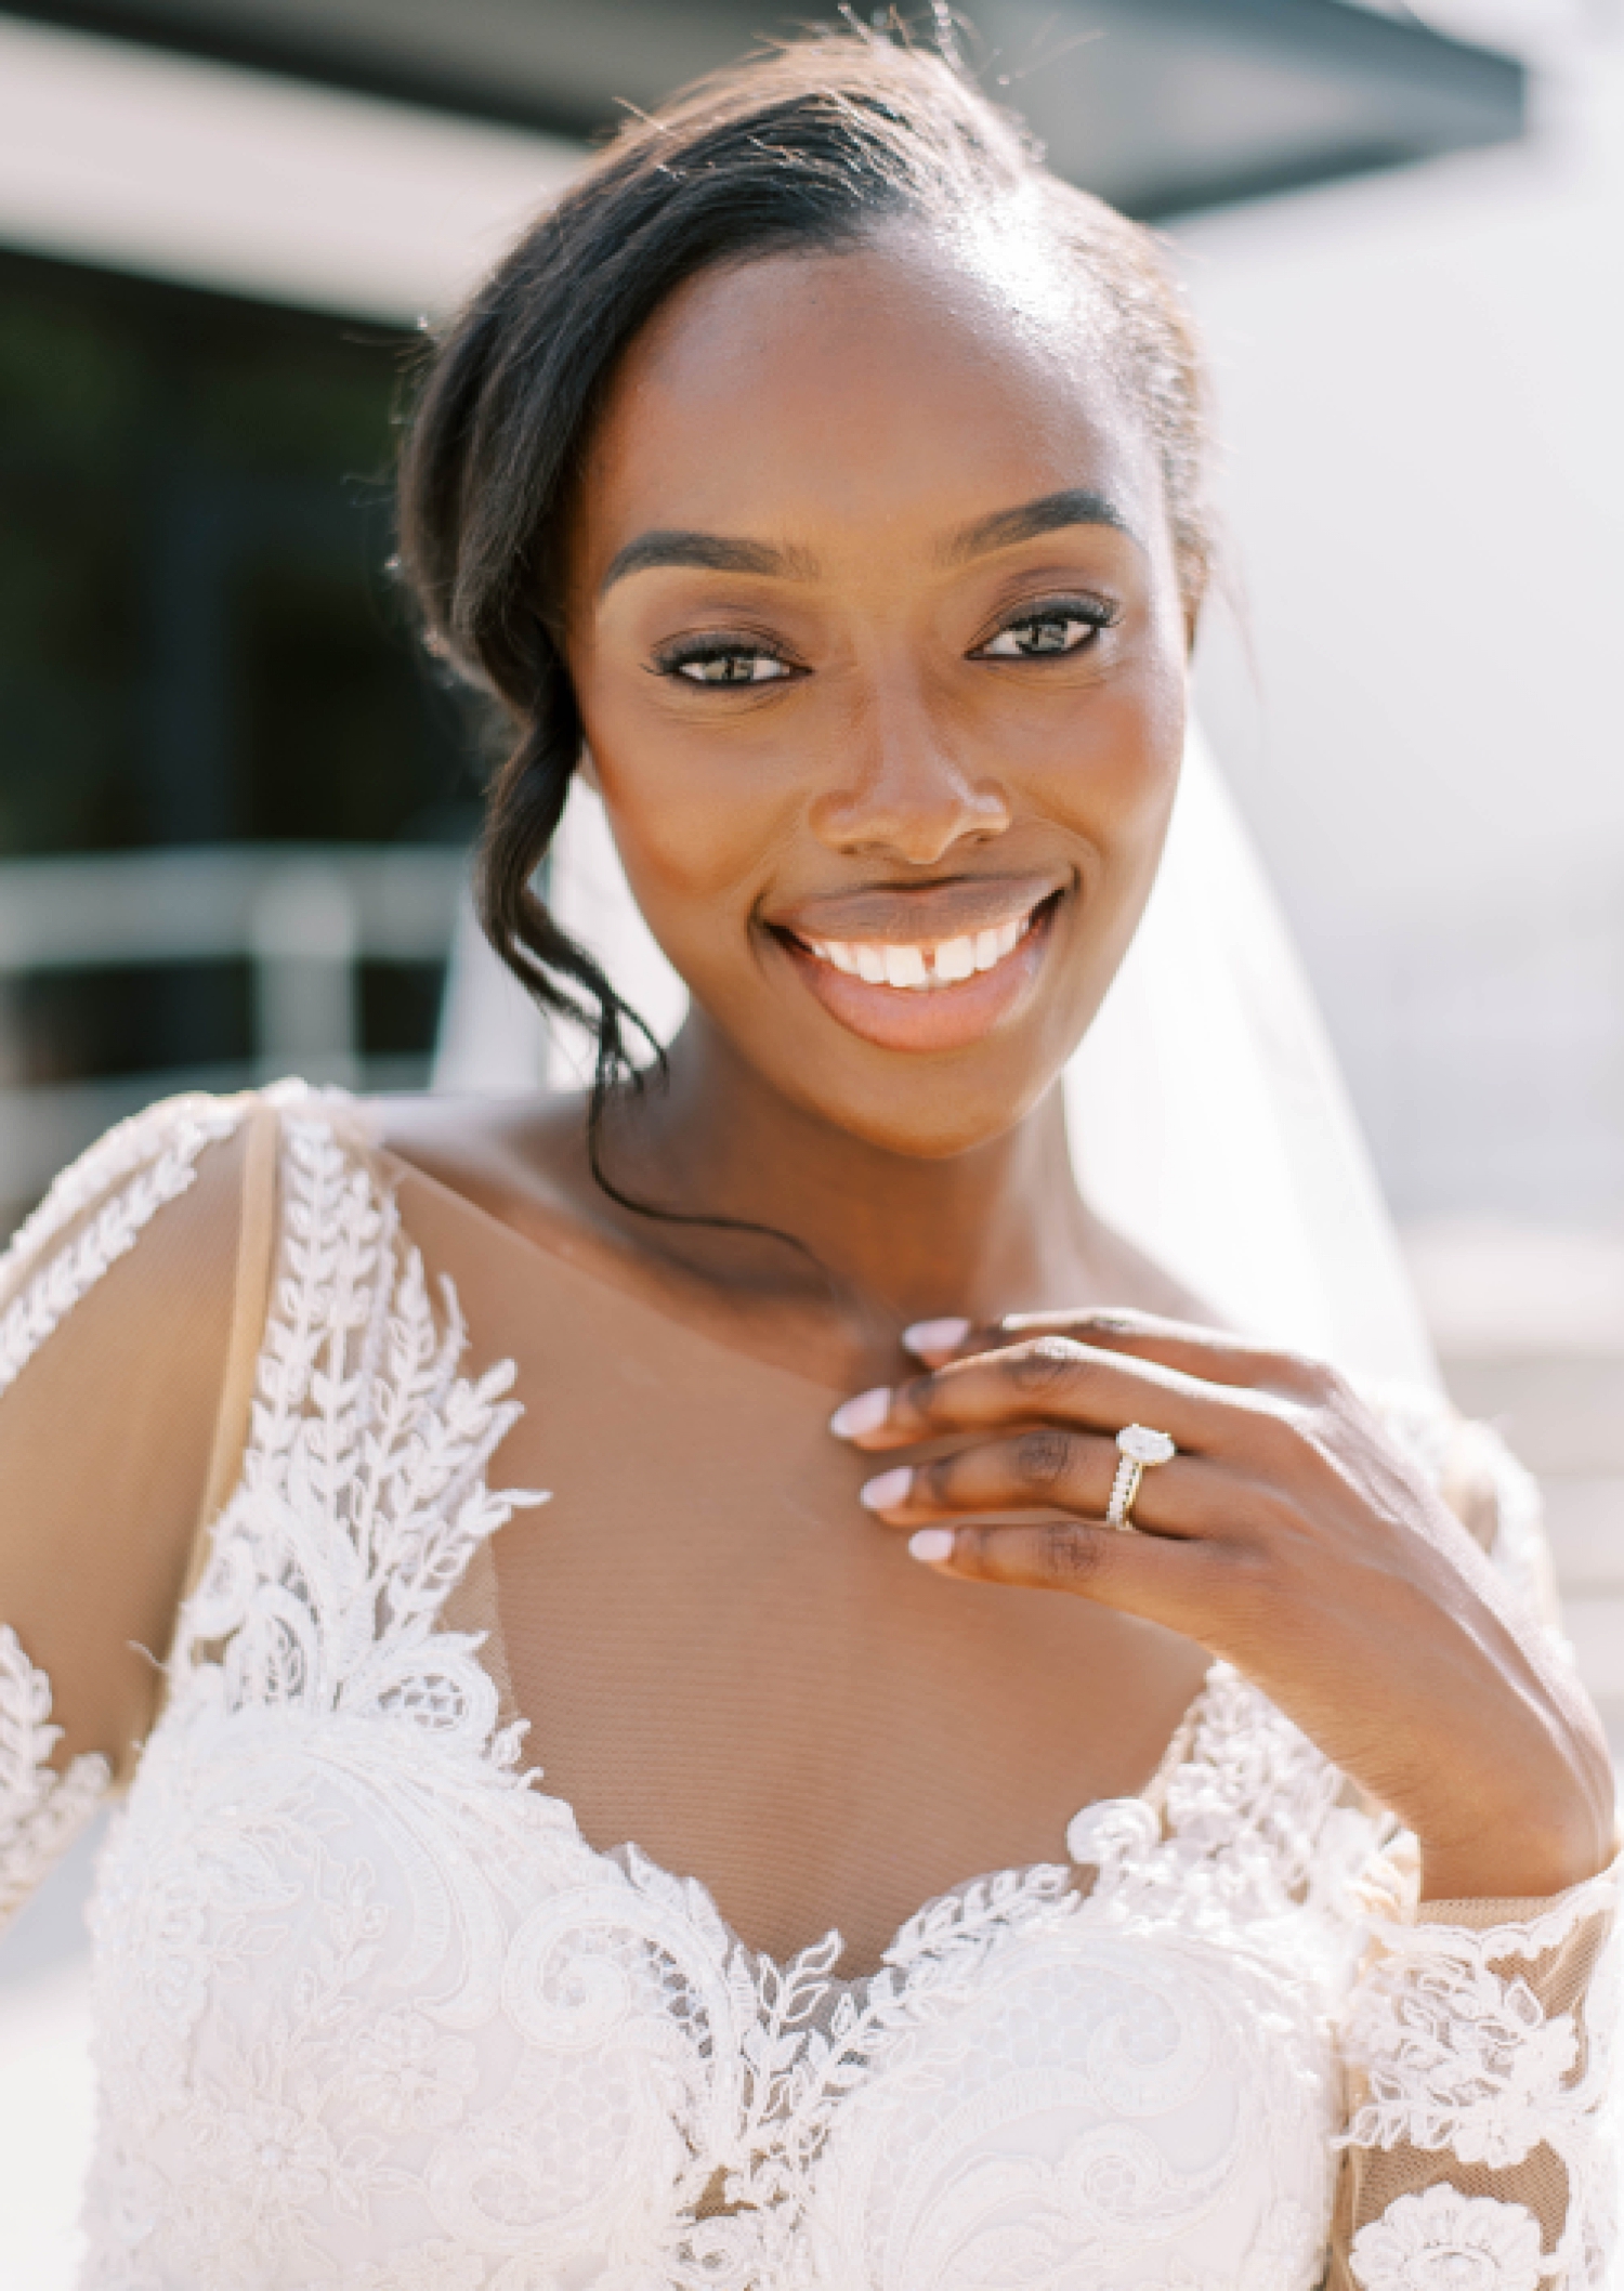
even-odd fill
[[[928,1377],[859,1393],[829,1427],[866,1450],[909,1448],[955,1432],[1008,1432],[1058,1423],[1109,1439],[1132,1423],[1170,1434],[1184,1450],[1225,1455],[1255,1423],[1278,1420],[1267,1393],[1214,1391],[1154,1359],[1122,1359],[1074,1336],[1038,1336],[948,1361]]]

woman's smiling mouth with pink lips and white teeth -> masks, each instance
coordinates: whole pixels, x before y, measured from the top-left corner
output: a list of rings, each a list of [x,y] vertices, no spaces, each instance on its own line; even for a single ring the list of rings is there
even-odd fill
[[[891,930],[884,935],[859,935],[848,926],[850,935],[836,937],[776,926],[772,939],[829,1017],[866,1042],[912,1052],[967,1049],[1028,999],[1058,907],[1054,884],[1040,884],[1038,896],[1026,889],[1022,912],[1010,914],[1015,887],[1003,884],[978,889],[983,912],[987,889],[999,891],[1006,912],[978,930],[925,935],[944,903],[932,907],[930,893],[916,893],[914,905],[898,910],[891,903],[884,914]],[[896,930],[898,921],[912,921],[912,928]]]

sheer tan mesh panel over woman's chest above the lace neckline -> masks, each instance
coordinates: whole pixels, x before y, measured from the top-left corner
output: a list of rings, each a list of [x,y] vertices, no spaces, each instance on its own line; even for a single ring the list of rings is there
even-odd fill
[[[563,1274],[490,1340],[525,1395],[504,1478],[550,1501],[492,1540],[481,1620],[596,1847],[696,1872],[776,1957],[836,1924],[866,1970],[921,1899],[1145,1787],[1207,1656],[914,1565],[836,1393]]]

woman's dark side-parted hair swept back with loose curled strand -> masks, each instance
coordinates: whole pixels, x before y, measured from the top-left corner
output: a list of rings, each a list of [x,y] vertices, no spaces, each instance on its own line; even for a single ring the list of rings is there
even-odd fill
[[[815,34],[630,119],[431,353],[401,465],[401,564],[433,651],[518,731],[488,795],[479,916],[536,1001],[598,1036],[593,1168],[605,1095],[634,1072],[628,1031],[648,1029],[559,930],[534,875],[582,745],[559,536],[605,387],[701,270],[859,245],[896,220],[951,231],[1001,211],[1049,234],[1088,298],[1095,339],[1154,440],[1193,607],[1209,559],[1203,387],[1157,243],[1047,174],[1024,131],[941,53],[880,32]]]

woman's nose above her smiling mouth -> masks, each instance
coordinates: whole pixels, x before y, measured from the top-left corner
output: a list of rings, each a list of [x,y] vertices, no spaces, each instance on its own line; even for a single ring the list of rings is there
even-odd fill
[[[907,687],[866,696],[838,781],[811,813],[829,850],[905,866],[939,866],[955,845],[987,843],[1008,825],[996,777],[955,754],[928,696]]]

